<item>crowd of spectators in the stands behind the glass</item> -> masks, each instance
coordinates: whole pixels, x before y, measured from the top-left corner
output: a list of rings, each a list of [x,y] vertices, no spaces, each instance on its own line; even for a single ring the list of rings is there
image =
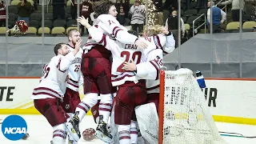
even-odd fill
[[[89,18],[93,23],[97,17],[94,14],[93,4],[97,4],[99,0],[82,0],[79,4],[79,13],[77,12],[77,0],[52,0],[51,7],[52,12],[44,14],[44,26],[45,34],[60,35],[66,34],[70,28],[77,26],[76,18],[78,15],[83,15],[85,18]],[[154,13],[158,19],[157,24],[166,26],[169,30],[173,30],[174,35],[178,36],[178,1],[174,0],[152,0],[155,6]],[[245,31],[254,30],[256,26],[255,22],[255,6],[256,2],[250,2],[246,5],[246,0],[242,1],[240,6],[239,0],[224,0],[219,2],[217,0],[212,4],[209,4],[207,0],[182,0],[181,12],[181,30],[182,38],[192,36],[191,30],[194,19],[202,16],[194,22],[194,26],[200,26],[206,22],[207,29],[210,31],[210,10],[209,7],[213,6],[213,32],[219,33],[223,30],[228,32],[236,32],[239,27],[239,9],[242,9],[242,29]],[[41,34],[42,33],[42,13],[38,9],[37,0],[12,0],[8,7],[8,26],[11,28],[18,20],[25,20],[29,25],[27,34]],[[218,3],[218,6],[216,4]],[[226,13],[222,10],[223,6],[227,6],[227,13],[231,11],[231,19],[226,22],[227,25],[223,28],[222,23],[227,20]],[[118,11],[118,22],[128,29],[136,30],[139,34],[145,29],[145,2],[141,0],[116,0],[116,8]],[[224,14],[224,13],[225,14]],[[249,23],[247,21],[250,21]],[[233,22],[233,23],[232,23]],[[255,23],[254,23],[255,22]],[[246,26],[244,26],[246,24]],[[0,1],[0,29],[4,29],[6,26],[6,4]],[[238,26],[238,27],[235,27]],[[216,28],[217,27],[217,28]],[[176,30],[176,31],[175,31]],[[206,30],[206,32],[208,32]],[[2,34],[3,30],[0,30]],[[82,34],[86,34],[86,30],[81,26]],[[204,33],[204,26],[202,29],[197,30],[198,33]],[[177,37],[176,36],[176,37]]]

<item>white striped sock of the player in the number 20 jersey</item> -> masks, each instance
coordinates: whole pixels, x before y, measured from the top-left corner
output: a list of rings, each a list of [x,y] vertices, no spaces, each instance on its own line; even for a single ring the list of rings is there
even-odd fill
[[[120,144],[130,144],[130,125],[118,125]]]

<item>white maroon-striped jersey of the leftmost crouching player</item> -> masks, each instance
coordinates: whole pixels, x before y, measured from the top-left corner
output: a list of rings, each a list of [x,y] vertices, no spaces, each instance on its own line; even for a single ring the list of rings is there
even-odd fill
[[[46,74],[33,90],[32,99],[62,98],[66,92],[68,68],[74,60],[74,54],[58,55],[51,58],[46,66]]]

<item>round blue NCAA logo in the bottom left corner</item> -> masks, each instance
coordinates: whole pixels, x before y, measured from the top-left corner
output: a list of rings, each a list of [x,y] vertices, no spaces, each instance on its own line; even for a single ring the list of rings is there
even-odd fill
[[[11,141],[23,138],[26,131],[26,121],[21,116],[10,115],[2,122],[2,134]]]

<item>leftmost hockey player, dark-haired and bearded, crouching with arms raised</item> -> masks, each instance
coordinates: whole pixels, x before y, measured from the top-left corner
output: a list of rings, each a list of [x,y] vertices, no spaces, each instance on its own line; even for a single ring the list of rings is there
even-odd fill
[[[78,137],[72,131],[68,132],[67,130],[68,122],[66,122],[66,119],[69,116],[60,106],[60,102],[63,100],[66,91],[68,68],[74,61],[75,55],[78,54],[81,42],[82,40],[80,39],[70,53],[65,43],[58,43],[54,46],[56,56],[51,58],[46,66],[46,74],[44,74],[38,86],[34,88],[31,96],[34,99],[34,107],[54,128],[51,141],[54,144],[64,144],[67,133],[78,141]]]

